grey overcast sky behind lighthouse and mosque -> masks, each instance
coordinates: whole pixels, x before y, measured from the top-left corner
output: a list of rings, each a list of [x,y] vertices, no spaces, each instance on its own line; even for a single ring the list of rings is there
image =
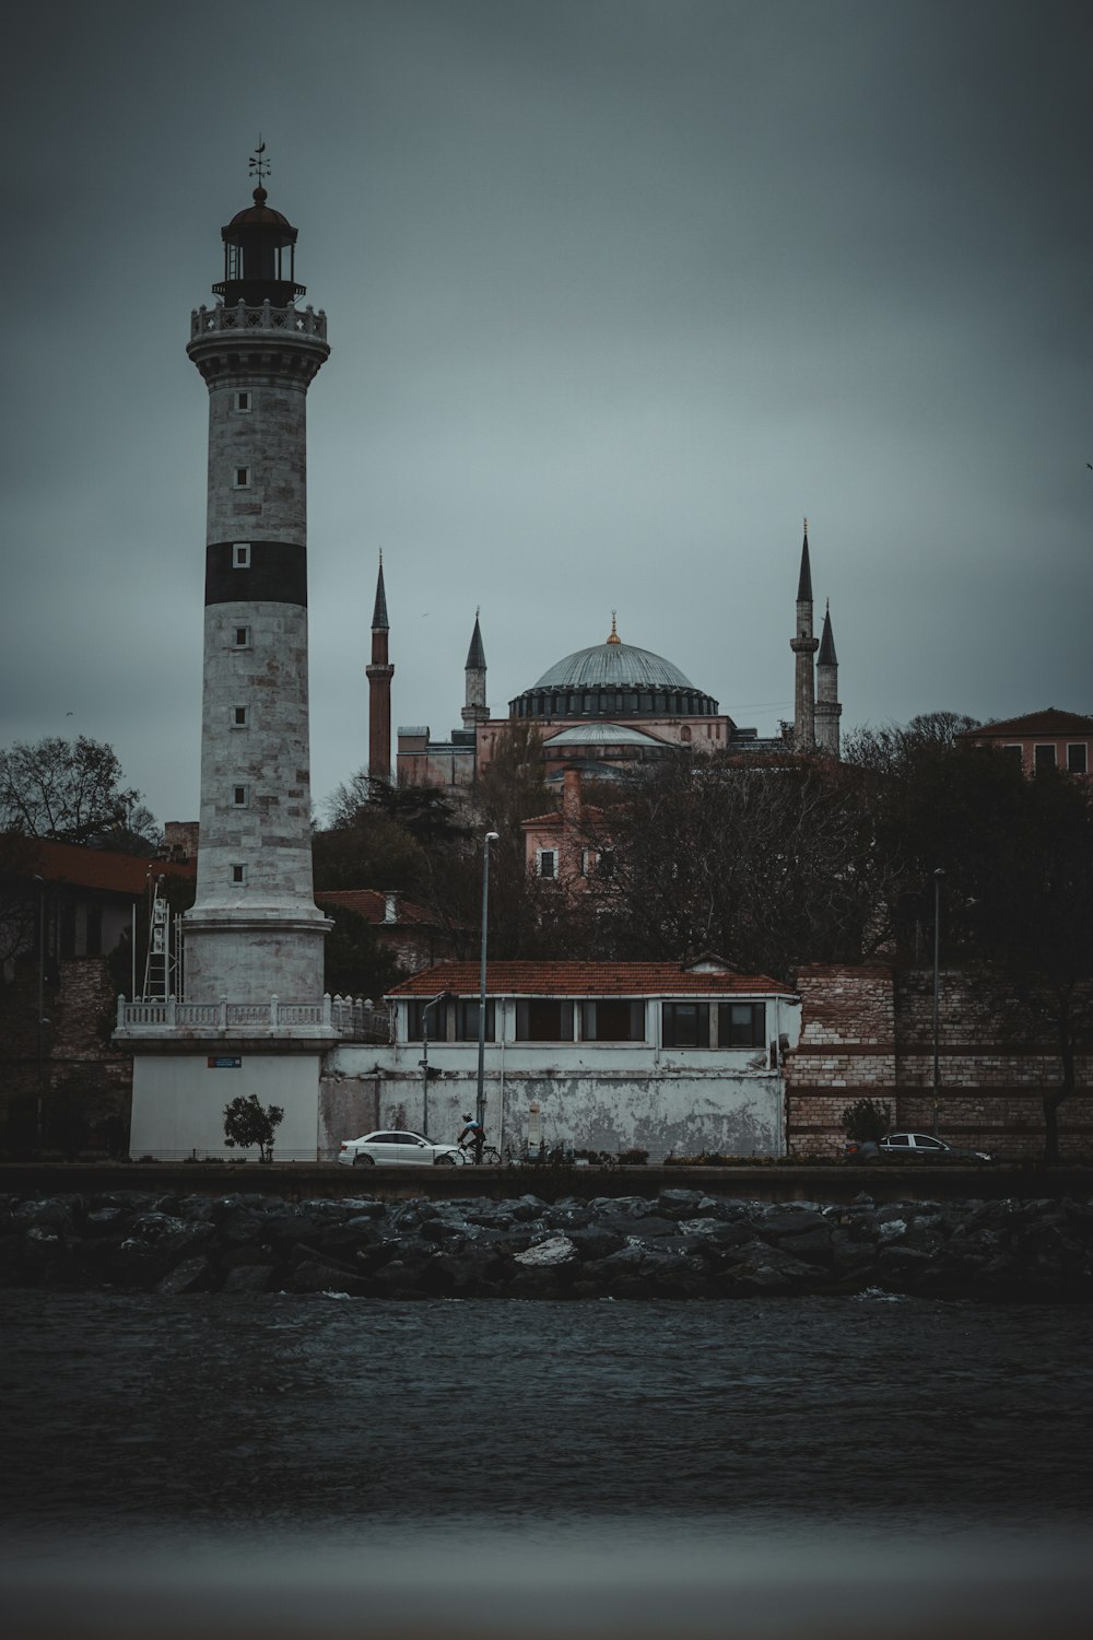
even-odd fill
[[[7,21],[0,745],[197,817],[206,389],[259,131],[308,397],[311,769],[619,635],[791,717],[810,518],[844,728],[1093,710],[1090,8],[57,3]]]

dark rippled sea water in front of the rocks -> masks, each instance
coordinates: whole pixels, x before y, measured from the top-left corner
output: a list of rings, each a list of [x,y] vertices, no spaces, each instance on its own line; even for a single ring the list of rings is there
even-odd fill
[[[5,1633],[1086,1635],[1093,1315],[0,1299]]]

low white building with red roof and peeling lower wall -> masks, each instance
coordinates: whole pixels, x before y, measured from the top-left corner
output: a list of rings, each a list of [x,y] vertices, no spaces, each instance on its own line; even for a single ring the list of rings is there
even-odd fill
[[[326,1055],[324,1143],[369,1128],[456,1138],[475,1109],[480,971],[441,963],[390,994],[388,1046]],[[678,963],[488,963],[483,1117],[488,1141],[665,1156],[785,1155],[782,1058],[796,994],[716,956]],[[423,1064],[423,1059],[426,1064]],[[428,1074],[426,1074],[428,1069]]]

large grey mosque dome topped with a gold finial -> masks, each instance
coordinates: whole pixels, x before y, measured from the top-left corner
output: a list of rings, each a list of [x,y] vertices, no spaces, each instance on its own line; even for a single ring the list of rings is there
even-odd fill
[[[611,620],[606,643],[567,654],[510,702],[515,718],[716,717],[718,702],[678,666],[623,643]]]

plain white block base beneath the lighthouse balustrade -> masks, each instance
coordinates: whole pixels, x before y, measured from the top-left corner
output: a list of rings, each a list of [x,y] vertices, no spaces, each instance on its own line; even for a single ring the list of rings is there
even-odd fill
[[[216,1041],[200,1053],[136,1053],[133,1059],[133,1125],[129,1155],[157,1161],[257,1161],[257,1146],[224,1145],[224,1107],[257,1094],[261,1105],[285,1112],[274,1138],[277,1161],[318,1159],[321,1053],[297,1046],[270,1051],[269,1043]]]

